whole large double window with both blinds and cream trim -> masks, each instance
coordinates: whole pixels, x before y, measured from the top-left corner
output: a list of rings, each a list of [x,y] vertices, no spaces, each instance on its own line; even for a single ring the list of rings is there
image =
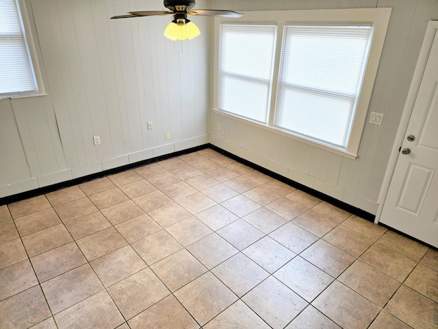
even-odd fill
[[[216,19],[215,109],[355,157],[390,10]]]

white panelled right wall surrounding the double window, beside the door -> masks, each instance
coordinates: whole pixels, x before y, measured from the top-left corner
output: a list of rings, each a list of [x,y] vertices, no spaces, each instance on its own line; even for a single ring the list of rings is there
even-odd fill
[[[428,21],[437,0],[211,0],[212,9],[300,10],[393,8],[369,112],[385,114],[381,126],[365,124],[359,157],[351,160],[240,120],[210,112],[210,143],[296,182],[373,214],[402,116]],[[212,97],[212,93],[210,93]],[[212,103],[210,103],[212,108]],[[222,129],[216,130],[220,122]]]

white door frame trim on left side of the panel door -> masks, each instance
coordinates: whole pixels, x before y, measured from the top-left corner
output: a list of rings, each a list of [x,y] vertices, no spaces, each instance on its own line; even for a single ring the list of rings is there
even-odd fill
[[[378,199],[377,199],[378,209],[374,223],[378,223],[381,219],[383,206],[385,205],[386,197],[389,191],[389,185],[391,184],[392,176],[394,175],[394,171],[396,169],[398,156],[400,155],[399,149],[403,143],[404,135],[406,134],[409,120],[411,119],[413,106],[415,105],[418,89],[420,88],[420,83],[422,82],[424,70],[426,69],[426,64],[429,58],[430,49],[432,48],[433,40],[437,33],[438,33],[438,21],[429,21],[428,27],[426,29],[426,35],[424,36],[422,48],[420,50],[420,56],[418,57],[417,60],[417,66],[415,66],[415,72],[413,73],[413,78],[411,82],[411,87],[409,88],[407,101],[404,104],[402,119],[400,120],[400,124],[398,125],[396,139],[392,147],[391,156],[389,156],[389,162],[385,171],[385,176],[383,178],[381,191],[378,195]]]

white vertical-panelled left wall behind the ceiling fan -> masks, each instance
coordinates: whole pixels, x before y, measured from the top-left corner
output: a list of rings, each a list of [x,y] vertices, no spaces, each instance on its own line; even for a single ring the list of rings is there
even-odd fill
[[[173,42],[169,17],[110,20],[162,0],[26,1],[47,96],[0,100],[0,197],[207,143],[207,18]]]

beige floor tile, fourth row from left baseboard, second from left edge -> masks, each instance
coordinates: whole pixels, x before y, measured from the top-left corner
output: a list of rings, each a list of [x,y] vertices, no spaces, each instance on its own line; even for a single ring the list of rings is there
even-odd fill
[[[30,258],[30,260],[40,282],[55,278],[55,276],[87,263],[86,258],[74,242],[51,249]]]

